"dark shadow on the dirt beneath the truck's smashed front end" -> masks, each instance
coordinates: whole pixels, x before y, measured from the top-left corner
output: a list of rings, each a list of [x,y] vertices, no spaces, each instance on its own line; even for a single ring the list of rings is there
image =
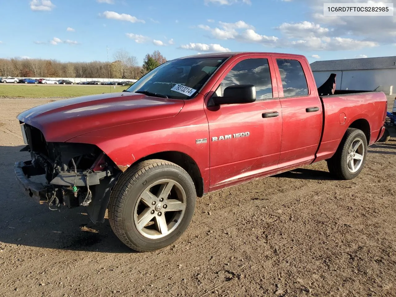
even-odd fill
[[[93,224],[82,207],[51,211],[48,205],[32,201],[15,179],[15,162],[29,160],[29,153],[20,152],[21,148],[0,146],[0,242],[73,251],[134,252],[114,235],[107,219]]]

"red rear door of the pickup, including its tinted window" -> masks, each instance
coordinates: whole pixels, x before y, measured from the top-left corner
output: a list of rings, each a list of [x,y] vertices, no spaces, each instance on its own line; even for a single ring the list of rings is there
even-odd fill
[[[322,133],[322,104],[309,65],[300,57],[273,56],[282,105],[282,145],[278,167],[314,159]],[[307,76],[311,84],[307,83]],[[316,88],[316,87],[315,87]]]

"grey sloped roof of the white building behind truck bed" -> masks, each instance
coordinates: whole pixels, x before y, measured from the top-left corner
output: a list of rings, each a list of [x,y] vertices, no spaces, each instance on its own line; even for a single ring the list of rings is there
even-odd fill
[[[389,69],[396,68],[396,56],[315,61],[310,65],[312,71]]]

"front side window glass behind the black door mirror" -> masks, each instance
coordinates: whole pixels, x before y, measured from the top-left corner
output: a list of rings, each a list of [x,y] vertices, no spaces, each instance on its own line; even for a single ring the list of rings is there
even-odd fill
[[[224,89],[234,85],[254,85],[257,100],[272,98],[271,74],[268,59],[246,59],[236,64],[221,82],[221,96]],[[216,93],[220,93],[217,92]]]

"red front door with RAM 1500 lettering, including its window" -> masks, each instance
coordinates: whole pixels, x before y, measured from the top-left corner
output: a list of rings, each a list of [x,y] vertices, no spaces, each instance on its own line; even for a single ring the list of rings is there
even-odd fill
[[[238,183],[278,168],[282,108],[269,56],[240,57],[213,87],[222,96],[228,86],[253,84],[253,103],[205,108],[209,122],[210,188]],[[206,103],[208,98],[206,98]]]

